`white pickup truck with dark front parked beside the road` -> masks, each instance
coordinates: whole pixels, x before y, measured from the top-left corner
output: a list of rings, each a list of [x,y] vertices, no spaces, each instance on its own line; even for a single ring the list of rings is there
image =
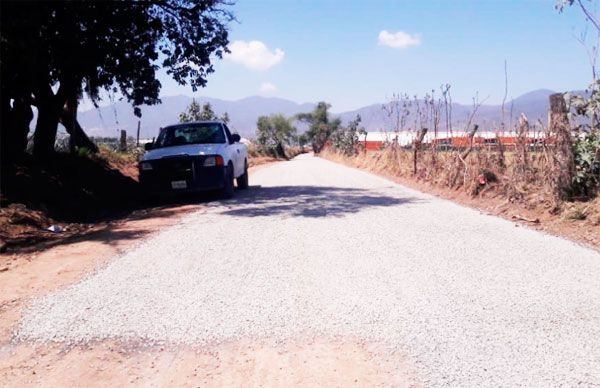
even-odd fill
[[[196,121],[160,129],[139,163],[140,184],[151,192],[220,190],[231,198],[234,179],[248,188],[248,149],[222,121]]]

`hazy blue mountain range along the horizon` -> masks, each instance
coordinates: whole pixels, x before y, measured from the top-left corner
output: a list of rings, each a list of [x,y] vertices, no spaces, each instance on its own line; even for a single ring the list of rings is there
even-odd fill
[[[542,120],[548,116],[548,97],[554,93],[552,90],[540,89],[526,93],[518,98],[506,102],[505,122],[516,122],[521,113],[525,113],[530,122]],[[230,127],[240,135],[247,138],[254,137],[256,121],[261,115],[281,113],[293,116],[300,112],[310,112],[314,103],[298,104],[293,101],[274,97],[253,96],[236,101],[220,100],[216,98],[201,97],[198,103],[209,102],[216,114],[227,112],[230,118]],[[91,136],[118,136],[119,130],[124,129],[129,136],[135,136],[138,120],[140,121],[140,136],[150,138],[156,136],[160,127],[176,123],[179,113],[183,112],[192,102],[188,96],[162,97],[162,104],[143,106],[142,117],[138,119],[133,115],[132,107],[123,101],[113,103],[101,108],[80,112],[78,119],[81,126]],[[348,122],[359,114],[362,118],[361,125],[367,131],[383,131],[393,128],[393,120],[382,108],[383,104],[373,104],[353,111],[333,114],[342,122]],[[472,105],[452,103],[452,123],[454,128],[463,129]],[[412,127],[417,117],[415,109],[411,110],[407,118],[407,127]],[[493,130],[502,121],[502,108],[500,105],[481,105],[473,120],[483,130]]]

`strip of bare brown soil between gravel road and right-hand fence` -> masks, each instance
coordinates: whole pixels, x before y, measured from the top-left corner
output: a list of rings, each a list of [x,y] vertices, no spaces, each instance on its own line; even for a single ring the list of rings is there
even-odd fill
[[[451,189],[429,182],[398,176],[385,170],[375,170],[357,166],[351,160],[333,153],[323,153],[322,157],[343,163],[350,167],[367,170],[391,181],[413,189],[433,194],[465,205],[486,214],[506,218],[532,229],[568,238],[588,247],[600,250],[600,198],[587,202],[567,202],[560,208],[550,203],[539,193],[527,193],[521,200],[511,200],[498,193],[494,184],[484,187],[477,195],[464,189]]]

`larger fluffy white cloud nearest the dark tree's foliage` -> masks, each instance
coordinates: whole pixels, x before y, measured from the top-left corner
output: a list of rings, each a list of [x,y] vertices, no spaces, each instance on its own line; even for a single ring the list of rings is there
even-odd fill
[[[229,50],[231,53],[225,55],[226,59],[252,70],[267,70],[279,64],[285,57],[283,50],[269,50],[267,45],[259,40],[236,40],[231,42]]]

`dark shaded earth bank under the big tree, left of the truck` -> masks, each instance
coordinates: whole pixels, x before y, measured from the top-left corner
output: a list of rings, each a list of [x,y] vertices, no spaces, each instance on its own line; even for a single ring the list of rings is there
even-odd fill
[[[3,164],[0,252],[84,236],[151,207],[141,200],[137,181],[126,175],[129,170],[99,157],[60,153],[44,162],[25,155]]]

